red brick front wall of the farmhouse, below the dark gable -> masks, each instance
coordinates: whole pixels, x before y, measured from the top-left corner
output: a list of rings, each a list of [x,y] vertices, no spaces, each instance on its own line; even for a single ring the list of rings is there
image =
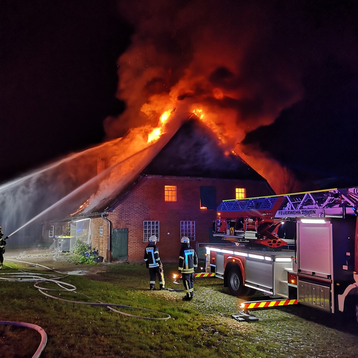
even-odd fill
[[[176,202],[164,201],[164,185],[175,185]],[[216,187],[216,204],[234,199],[235,188],[246,188],[247,197],[271,194],[265,182],[245,180],[144,176],[108,213],[112,228],[128,228],[128,261],[142,261],[143,221],[159,221],[158,248],[163,262],[176,262],[180,250],[180,221],[195,221],[196,242],[208,242],[209,230],[216,219],[215,210],[200,209],[200,186]],[[101,218],[102,219],[102,218]],[[104,224],[103,224],[104,229]],[[92,231],[91,231],[92,235]],[[105,236],[105,234],[103,234]],[[91,236],[92,237],[92,236]],[[107,236],[108,237],[108,236]],[[93,239],[96,241],[96,239]],[[103,255],[102,255],[103,256]]]

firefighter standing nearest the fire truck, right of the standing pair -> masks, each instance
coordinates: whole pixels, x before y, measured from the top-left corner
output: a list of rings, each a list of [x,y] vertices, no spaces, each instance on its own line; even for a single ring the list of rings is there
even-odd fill
[[[184,301],[189,301],[194,297],[194,269],[198,267],[198,256],[190,246],[189,238],[183,236],[180,240],[182,248],[179,253],[178,270],[182,274],[185,296]]]

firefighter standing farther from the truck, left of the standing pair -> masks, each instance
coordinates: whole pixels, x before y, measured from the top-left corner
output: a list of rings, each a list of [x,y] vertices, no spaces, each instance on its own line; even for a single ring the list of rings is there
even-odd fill
[[[165,281],[164,281],[164,271],[163,265],[160,261],[158,247],[156,247],[155,243],[158,238],[155,235],[152,235],[149,238],[148,246],[144,250],[144,261],[145,266],[149,269],[149,290],[155,291],[155,277],[159,278],[159,290],[165,289]]]

